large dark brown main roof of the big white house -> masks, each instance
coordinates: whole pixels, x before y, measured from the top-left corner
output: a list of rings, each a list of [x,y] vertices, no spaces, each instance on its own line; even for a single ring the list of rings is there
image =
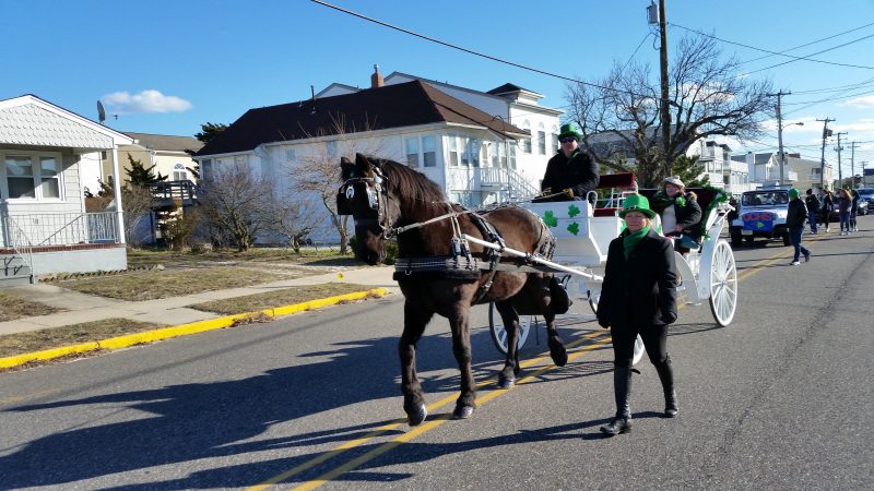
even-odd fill
[[[343,128],[339,129],[338,122]],[[462,103],[421,81],[354,94],[249,109],[197,155],[246,152],[263,143],[390,128],[450,122],[485,127],[498,134],[529,132]]]

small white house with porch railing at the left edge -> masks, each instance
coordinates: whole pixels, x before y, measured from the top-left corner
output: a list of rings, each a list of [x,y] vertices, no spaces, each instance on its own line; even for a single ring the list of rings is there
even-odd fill
[[[127,268],[118,184],[115,211],[85,213],[82,176],[131,143],[34,95],[0,100],[0,284]]]

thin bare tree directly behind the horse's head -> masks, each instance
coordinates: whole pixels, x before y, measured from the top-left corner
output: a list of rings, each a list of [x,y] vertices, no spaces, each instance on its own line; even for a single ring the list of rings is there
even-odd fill
[[[331,115],[331,127],[322,128],[309,137],[331,136],[324,148],[302,156],[300,159],[286,167],[285,173],[294,189],[300,193],[315,196],[328,211],[331,225],[340,236],[340,253],[349,253],[350,217],[336,213],[336,191],[340,188],[340,158],[355,159],[356,153],[386,156],[385,145],[379,139],[364,140],[356,133],[375,129],[375,122],[365,121],[363,128],[349,123],[344,115]],[[329,145],[333,149],[329,149]]]

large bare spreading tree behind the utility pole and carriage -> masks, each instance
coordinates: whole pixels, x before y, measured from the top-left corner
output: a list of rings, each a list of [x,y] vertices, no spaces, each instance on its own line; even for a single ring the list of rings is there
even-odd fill
[[[570,117],[580,127],[582,145],[599,164],[635,170],[642,185],[651,187],[672,175],[674,160],[699,139],[759,136],[773,107],[771,84],[740,76],[737,59],[724,60],[721,55],[712,38],[681,39],[669,73],[666,146],[661,140],[659,77],[652,76],[649,65],[633,63],[626,69],[616,63],[591,85],[568,84]],[[627,154],[634,156],[635,169],[624,161]]]

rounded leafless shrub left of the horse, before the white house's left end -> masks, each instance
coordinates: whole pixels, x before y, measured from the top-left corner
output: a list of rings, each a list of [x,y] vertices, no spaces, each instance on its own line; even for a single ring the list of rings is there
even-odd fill
[[[209,227],[233,239],[243,252],[267,229],[271,187],[243,164],[217,168],[203,185],[201,216]]]

